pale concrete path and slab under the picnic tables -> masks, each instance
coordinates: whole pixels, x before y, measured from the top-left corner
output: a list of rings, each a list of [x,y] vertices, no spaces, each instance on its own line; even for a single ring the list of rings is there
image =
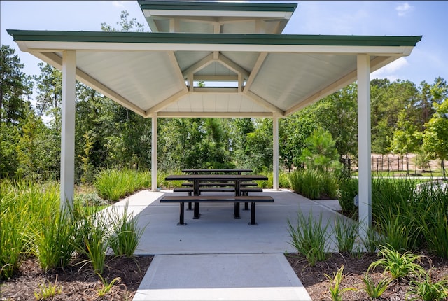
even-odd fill
[[[188,225],[178,226],[179,204],[160,204],[165,193],[174,195],[144,190],[114,205],[127,205],[145,228],[136,255],[155,255],[134,300],[311,300],[283,255],[296,252],[287,221],[302,210],[332,223],[337,201],[265,190],[275,202],[257,204],[256,226],[244,206],[234,219],[233,204],[201,204],[200,219],[186,211]]]

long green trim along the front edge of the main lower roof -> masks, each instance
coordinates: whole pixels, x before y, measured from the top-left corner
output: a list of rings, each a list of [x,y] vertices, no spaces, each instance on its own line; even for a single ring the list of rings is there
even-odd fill
[[[239,45],[415,46],[422,36],[189,34],[159,32],[6,30],[14,41]]]

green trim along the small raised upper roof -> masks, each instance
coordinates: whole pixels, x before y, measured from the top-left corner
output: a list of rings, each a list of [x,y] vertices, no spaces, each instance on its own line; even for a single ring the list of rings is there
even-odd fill
[[[230,11],[272,11],[293,13],[295,3],[230,3],[230,2],[174,2],[139,1],[141,10],[230,10]]]

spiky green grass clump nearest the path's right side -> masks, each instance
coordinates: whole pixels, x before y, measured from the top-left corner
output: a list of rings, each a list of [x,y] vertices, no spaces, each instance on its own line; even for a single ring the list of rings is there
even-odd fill
[[[327,228],[328,224],[322,225],[322,214],[316,220],[312,212],[305,217],[302,211],[297,211],[296,225],[293,225],[288,218],[289,244],[307,258],[309,265],[314,266],[316,262],[323,261],[327,257],[325,253],[328,241]]]

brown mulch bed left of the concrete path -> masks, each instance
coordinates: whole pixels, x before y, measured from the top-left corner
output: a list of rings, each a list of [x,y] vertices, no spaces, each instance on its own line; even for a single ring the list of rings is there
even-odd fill
[[[116,281],[104,297],[98,295],[98,290],[104,287],[102,280],[92,272],[90,265],[73,265],[45,273],[36,259],[24,260],[17,275],[1,282],[0,300],[36,300],[34,293],[40,292],[41,286],[48,287],[50,283],[60,286],[62,293],[49,300],[132,300],[151,260],[153,256],[107,258],[102,276],[107,283],[117,277],[120,277],[120,281]]]

